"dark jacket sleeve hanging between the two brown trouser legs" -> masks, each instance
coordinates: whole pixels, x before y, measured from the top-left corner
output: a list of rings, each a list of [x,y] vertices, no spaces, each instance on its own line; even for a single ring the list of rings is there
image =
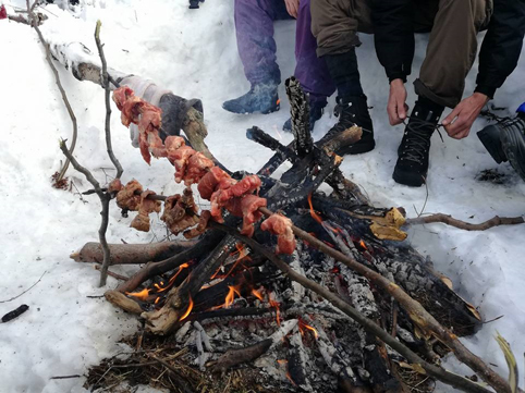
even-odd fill
[[[390,82],[411,74],[414,60],[413,0],[374,0],[371,17],[379,62]]]

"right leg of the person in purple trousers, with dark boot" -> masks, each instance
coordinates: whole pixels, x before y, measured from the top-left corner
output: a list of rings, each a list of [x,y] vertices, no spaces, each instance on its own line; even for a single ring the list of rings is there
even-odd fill
[[[314,130],[315,122],[321,118],[327,98],[335,91],[325,59],[317,57],[316,49],[317,41],[312,34],[310,0],[301,0],[295,29],[294,76],[309,96],[310,130]],[[291,119],[284,123],[283,130],[292,131]]]

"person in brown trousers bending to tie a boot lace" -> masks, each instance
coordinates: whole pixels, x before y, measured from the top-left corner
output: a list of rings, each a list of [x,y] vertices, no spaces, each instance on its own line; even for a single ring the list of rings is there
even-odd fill
[[[356,30],[371,21],[376,52],[390,81],[390,124],[408,119],[393,179],[410,186],[426,181],[430,137],[444,108],[453,108],[443,120],[447,133],[456,139],[466,137],[483,107],[515,69],[525,33],[525,0],[313,0],[312,13],[318,53],[326,59],[338,91],[341,83],[358,79],[352,54],[359,44]],[[462,100],[476,58],[476,35],[485,28],[477,87]],[[404,84],[414,58],[414,33],[425,32],[430,33],[429,42],[414,82],[418,98],[408,118]],[[354,98],[340,98],[344,108],[340,123],[366,118],[365,106],[355,102],[361,91],[354,87],[345,94]]]

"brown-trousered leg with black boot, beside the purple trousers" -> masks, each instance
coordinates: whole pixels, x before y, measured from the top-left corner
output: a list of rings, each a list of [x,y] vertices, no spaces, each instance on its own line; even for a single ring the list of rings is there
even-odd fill
[[[370,32],[370,12],[364,0],[312,0],[312,30],[317,38],[317,54],[327,63],[338,89],[339,122],[321,138],[357,124],[362,139],[338,151],[340,155],[366,152],[375,147],[374,127],[367,99],[361,85],[355,47],[361,45],[357,32]]]

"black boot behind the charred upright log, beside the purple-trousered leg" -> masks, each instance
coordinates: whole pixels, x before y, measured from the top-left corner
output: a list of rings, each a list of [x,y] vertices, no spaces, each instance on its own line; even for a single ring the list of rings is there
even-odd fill
[[[339,156],[344,155],[359,155],[367,152],[376,147],[374,140],[374,126],[371,124],[370,113],[368,112],[368,106],[366,103],[366,96],[337,98],[338,105],[333,110],[333,114],[339,118],[338,123],[331,127],[327,135],[325,135],[318,145],[321,146],[329,139],[333,138],[337,134],[357,125],[363,128],[363,136],[358,142],[353,145],[342,147],[335,152]]]

